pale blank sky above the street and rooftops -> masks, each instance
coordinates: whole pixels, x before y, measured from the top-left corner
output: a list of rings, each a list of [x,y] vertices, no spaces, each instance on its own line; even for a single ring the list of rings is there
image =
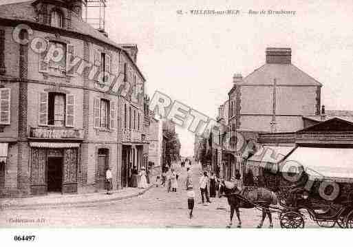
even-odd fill
[[[0,3],[13,2],[0,0]],[[353,109],[352,0],[206,1],[107,0],[106,30],[138,45],[147,93],[158,90],[215,118],[235,73],[265,63],[266,47],[291,47],[292,63],[318,80],[325,109]],[[238,15],[178,14],[239,10]],[[248,14],[288,10],[295,15]],[[182,155],[193,155],[193,133],[177,128]]]

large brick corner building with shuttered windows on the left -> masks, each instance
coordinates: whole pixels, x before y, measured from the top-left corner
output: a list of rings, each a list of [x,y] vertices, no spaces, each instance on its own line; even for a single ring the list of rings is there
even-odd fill
[[[114,43],[81,14],[81,1],[0,6],[2,195],[99,191],[107,167],[120,189],[142,165],[137,47]]]

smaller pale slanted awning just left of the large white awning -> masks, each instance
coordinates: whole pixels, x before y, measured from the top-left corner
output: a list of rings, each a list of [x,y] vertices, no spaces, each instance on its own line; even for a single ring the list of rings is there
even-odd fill
[[[248,161],[277,164],[293,149],[295,147],[263,146]]]

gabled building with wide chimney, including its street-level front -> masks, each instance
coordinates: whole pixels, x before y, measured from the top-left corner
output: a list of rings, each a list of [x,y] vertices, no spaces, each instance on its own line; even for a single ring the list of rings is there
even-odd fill
[[[217,116],[228,127],[217,158],[224,178],[241,170],[259,133],[297,131],[304,127],[303,116],[319,117],[322,85],[293,65],[291,57],[290,48],[267,48],[264,65],[245,78],[234,74]]]

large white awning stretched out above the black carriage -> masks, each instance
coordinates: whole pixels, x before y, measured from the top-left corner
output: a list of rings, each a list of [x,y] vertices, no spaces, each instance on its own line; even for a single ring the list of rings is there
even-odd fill
[[[288,162],[302,165],[310,178],[353,182],[353,149],[298,147],[282,164]]]

